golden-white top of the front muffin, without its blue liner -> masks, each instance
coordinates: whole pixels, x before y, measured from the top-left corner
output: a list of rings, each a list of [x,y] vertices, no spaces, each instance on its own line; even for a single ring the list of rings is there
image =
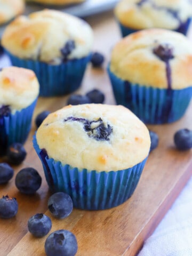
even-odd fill
[[[148,156],[149,131],[123,106],[84,104],[50,114],[36,139],[49,158],[79,169],[118,171]]]

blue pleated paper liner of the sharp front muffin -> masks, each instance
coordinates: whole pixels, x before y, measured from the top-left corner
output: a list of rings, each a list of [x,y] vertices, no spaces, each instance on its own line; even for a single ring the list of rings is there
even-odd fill
[[[49,158],[33,139],[34,148],[41,159],[46,181],[55,193],[69,194],[74,207],[83,210],[105,210],[124,203],[138,185],[146,159],[126,170],[97,172],[62,165]]]

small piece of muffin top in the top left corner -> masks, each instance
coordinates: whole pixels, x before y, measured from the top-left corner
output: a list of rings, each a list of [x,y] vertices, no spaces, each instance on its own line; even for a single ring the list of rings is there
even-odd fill
[[[0,0],[0,25],[24,11],[23,0]]]

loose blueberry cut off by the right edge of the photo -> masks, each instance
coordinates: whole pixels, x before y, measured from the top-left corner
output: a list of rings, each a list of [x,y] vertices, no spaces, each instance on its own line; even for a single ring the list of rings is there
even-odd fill
[[[174,134],[174,143],[179,150],[192,148],[192,130],[181,129]]]

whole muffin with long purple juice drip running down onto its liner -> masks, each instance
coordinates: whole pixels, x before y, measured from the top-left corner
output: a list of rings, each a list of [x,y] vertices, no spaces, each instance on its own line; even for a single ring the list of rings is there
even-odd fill
[[[108,74],[116,102],[149,124],[180,119],[192,95],[192,47],[181,33],[140,30],[119,41]]]

